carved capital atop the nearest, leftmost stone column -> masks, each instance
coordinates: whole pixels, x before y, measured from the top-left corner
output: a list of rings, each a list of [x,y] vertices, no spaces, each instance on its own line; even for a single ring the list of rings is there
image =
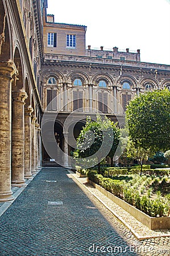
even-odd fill
[[[18,69],[12,60],[0,61],[0,76],[6,76],[9,77],[9,79],[13,79],[14,74],[18,75]]]

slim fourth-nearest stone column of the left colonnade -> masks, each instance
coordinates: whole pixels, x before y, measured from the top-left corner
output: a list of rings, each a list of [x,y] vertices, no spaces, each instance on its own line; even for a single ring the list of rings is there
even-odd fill
[[[32,116],[32,133],[31,133],[31,172],[32,174],[35,174],[35,121],[36,117],[35,115]]]

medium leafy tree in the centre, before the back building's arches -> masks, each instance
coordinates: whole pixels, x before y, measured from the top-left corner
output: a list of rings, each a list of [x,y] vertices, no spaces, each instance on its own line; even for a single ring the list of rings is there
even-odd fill
[[[88,117],[85,127],[77,138],[77,150],[74,151],[73,156],[81,166],[86,165],[88,161],[93,163],[93,166],[98,163],[98,173],[100,173],[102,159],[114,155],[118,140],[118,127],[109,118],[105,117],[102,120],[100,115],[97,115],[97,120],[92,121]]]

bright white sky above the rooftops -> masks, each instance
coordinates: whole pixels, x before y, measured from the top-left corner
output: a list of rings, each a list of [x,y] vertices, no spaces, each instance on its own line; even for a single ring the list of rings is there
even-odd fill
[[[47,14],[87,26],[91,49],[140,49],[140,61],[170,65],[170,0],[48,0]]]

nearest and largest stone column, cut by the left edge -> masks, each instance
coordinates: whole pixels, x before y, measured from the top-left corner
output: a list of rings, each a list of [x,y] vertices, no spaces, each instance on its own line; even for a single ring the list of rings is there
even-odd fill
[[[11,81],[12,61],[0,63],[0,201],[13,200],[11,191]]]

